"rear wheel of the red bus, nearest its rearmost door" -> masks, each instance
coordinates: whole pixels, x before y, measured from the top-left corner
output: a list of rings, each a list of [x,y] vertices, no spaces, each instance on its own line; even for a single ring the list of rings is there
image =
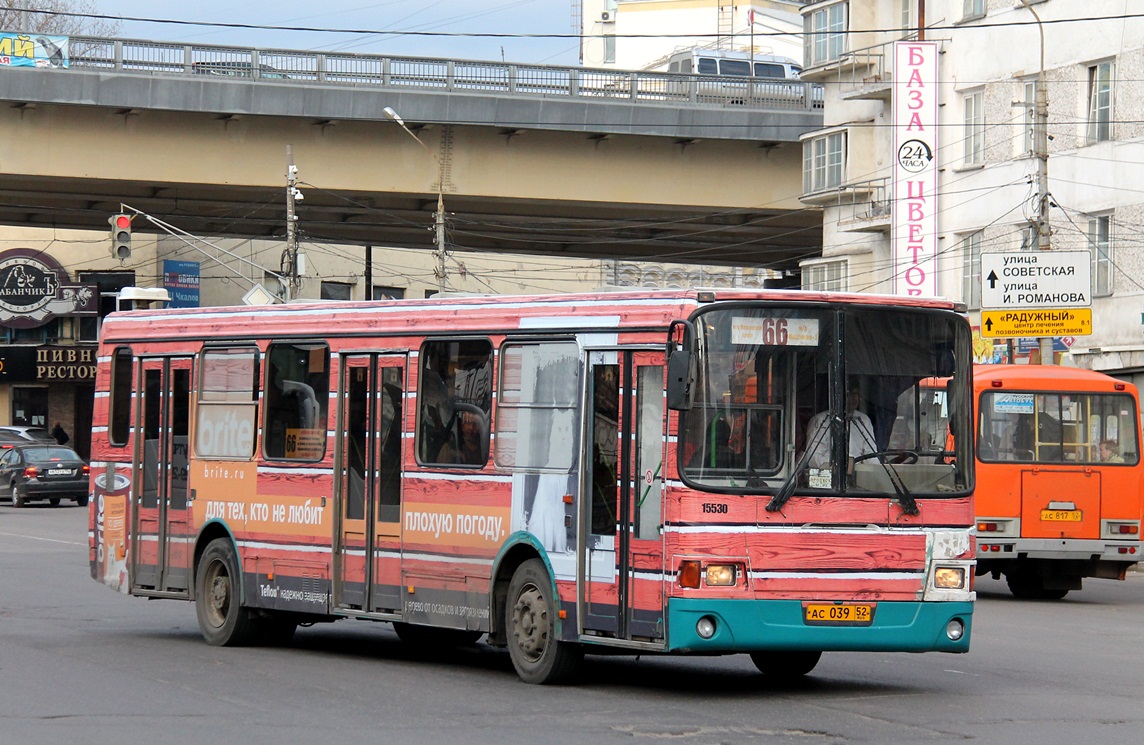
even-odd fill
[[[214,647],[239,647],[256,631],[245,608],[238,556],[227,538],[216,538],[202,552],[194,576],[194,611],[202,639]]]

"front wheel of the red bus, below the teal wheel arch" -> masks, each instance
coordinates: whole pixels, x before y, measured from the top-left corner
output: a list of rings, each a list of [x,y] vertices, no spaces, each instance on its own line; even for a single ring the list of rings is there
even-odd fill
[[[543,562],[530,558],[513,573],[505,619],[508,652],[516,674],[525,683],[559,683],[571,677],[583,660],[579,644],[556,637],[556,603],[553,582]]]

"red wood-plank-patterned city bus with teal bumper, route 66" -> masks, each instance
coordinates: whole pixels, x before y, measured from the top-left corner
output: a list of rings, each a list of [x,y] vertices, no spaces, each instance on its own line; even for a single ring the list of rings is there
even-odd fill
[[[829,650],[966,652],[972,470],[888,452],[927,378],[968,430],[960,310],[665,291],[112,314],[92,574],[192,601],[212,644],[379,620],[486,636],[533,683],[594,652],[788,676]]]

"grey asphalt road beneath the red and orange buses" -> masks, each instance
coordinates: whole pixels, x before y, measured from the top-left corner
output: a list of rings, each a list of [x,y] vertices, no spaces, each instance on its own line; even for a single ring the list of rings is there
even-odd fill
[[[591,658],[521,683],[483,644],[419,653],[386,624],[219,649],[190,603],[88,576],[86,509],[0,504],[0,745],[148,743],[1131,743],[1144,576],[1016,601],[979,579],[969,655],[827,653],[797,685],[745,656]]]

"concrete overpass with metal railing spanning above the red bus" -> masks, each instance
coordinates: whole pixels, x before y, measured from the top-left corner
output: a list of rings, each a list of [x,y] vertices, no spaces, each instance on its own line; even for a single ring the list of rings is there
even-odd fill
[[[820,253],[799,135],[821,95],[746,80],[72,38],[0,68],[0,223],[794,268]],[[392,108],[416,140],[384,113]],[[137,230],[146,230],[140,224]]]

